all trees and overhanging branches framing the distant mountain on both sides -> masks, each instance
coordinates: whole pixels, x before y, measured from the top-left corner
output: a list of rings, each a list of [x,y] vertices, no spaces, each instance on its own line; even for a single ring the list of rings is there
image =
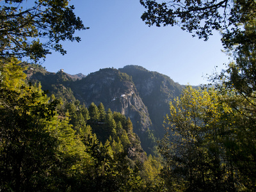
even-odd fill
[[[205,40],[221,31],[234,58],[211,85],[186,86],[170,101],[155,156],[121,113],[28,81],[24,60],[66,54],[61,42],[79,42],[75,32],[88,28],[68,1],[35,0],[27,10],[22,1],[0,6],[0,191],[256,190],[255,1],[140,0],[149,26],[178,25]]]

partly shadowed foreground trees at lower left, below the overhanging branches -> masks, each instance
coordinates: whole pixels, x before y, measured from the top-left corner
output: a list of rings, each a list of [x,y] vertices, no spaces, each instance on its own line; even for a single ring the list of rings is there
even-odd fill
[[[84,144],[67,117],[58,119],[58,101],[25,83],[17,59],[0,64],[0,190],[74,188],[71,181],[92,163]]]

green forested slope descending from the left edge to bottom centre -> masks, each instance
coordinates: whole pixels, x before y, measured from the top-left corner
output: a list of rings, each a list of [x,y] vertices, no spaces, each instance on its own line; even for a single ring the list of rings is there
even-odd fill
[[[3,191],[143,191],[161,186],[132,123],[102,104],[61,104],[26,84],[19,61],[1,63]],[[158,179],[157,179],[158,178]],[[156,182],[157,180],[157,182]]]

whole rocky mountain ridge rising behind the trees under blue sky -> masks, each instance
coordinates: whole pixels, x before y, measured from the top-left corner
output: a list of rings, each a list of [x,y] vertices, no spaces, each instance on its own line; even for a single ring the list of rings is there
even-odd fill
[[[141,146],[154,154],[156,137],[164,134],[163,117],[169,111],[169,102],[180,95],[182,86],[157,72],[128,65],[124,68],[104,68],[88,76],[72,76],[60,70],[47,72],[44,68],[28,68],[29,81],[42,85],[64,102],[79,100],[90,106],[100,102],[106,109],[129,117]]]

